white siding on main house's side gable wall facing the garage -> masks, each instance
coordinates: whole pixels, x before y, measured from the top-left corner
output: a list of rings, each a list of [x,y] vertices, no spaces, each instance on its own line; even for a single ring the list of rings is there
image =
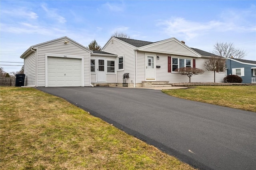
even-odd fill
[[[128,45],[124,45],[114,39],[113,43],[110,41],[104,48],[105,52],[116,54],[118,56],[124,55],[124,71],[117,71],[117,83],[123,83],[123,74],[129,73],[129,79],[126,83],[134,82],[134,50]],[[116,60],[116,62],[118,62]],[[118,69],[118,63],[116,63],[116,69]]]

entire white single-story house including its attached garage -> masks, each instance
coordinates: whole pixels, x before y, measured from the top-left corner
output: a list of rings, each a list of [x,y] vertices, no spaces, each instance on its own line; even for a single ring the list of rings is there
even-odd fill
[[[24,59],[25,86],[64,87],[153,83],[184,83],[189,78],[178,74],[180,67],[204,69],[212,53],[190,48],[176,38],[145,42],[111,37],[102,51],[91,51],[68,37],[33,45],[20,57]],[[216,82],[224,82],[224,72],[216,73]],[[213,82],[214,73],[192,76],[192,82]],[[143,84],[144,83],[144,84]]]

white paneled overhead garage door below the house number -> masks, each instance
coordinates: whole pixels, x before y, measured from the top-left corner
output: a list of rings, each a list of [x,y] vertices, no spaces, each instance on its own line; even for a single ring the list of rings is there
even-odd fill
[[[82,86],[82,59],[48,57],[48,87]]]

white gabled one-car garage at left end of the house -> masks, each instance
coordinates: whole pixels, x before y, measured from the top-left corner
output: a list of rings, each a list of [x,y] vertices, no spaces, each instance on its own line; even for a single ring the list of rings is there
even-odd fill
[[[33,45],[20,56],[25,86],[90,86],[91,53],[68,37]]]

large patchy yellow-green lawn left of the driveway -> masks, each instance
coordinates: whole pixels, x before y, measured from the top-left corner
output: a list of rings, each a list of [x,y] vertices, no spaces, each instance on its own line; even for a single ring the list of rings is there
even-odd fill
[[[1,87],[0,169],[191,170],[64,99]]]

